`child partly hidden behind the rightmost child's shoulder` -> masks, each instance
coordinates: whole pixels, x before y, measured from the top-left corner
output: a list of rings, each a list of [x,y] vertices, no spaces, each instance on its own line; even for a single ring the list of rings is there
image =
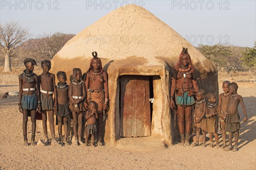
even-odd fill
[[[219,95],[219,102],[218,102],[218,110],[219,110],[219,121],[218,121],[218,133],[222,133],[223,145],[221,149],[225,148],[226,145],[226,131],[225,131],[225,118],[227,115],[227,106],[230,99],[231,94],[228,91],[228,85],[230,85],[229,81],[224,81],[222,83],[222,89],[224,93]]]

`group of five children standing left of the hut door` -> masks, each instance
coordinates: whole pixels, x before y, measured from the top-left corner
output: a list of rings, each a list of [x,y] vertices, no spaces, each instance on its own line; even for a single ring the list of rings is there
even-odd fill
[[[52,135],[52,145],[62,146],[70,145],[67,138],[68,118],[70,110],[73,116],[73,131],[75,144],[85,144],[87,146],[88,138],[91,135],[91,146],[96,146],[95,136],[97,132],[97,104],[94,101],[87,101],[87,93],[85,84],[81,80],[82,73],[80,68],[73,69],[73,80],[67,85],[67,75],[64,71],[57,73],[58,83],[55,85],[55,75],[49,73],[51,62],[43,60],[41,68],[43,73],[39,76],[33,73],[34,66],[37,65],[34,59],[27,58],[24,60],[26,69],[19,76],[19,111],[23,113],[23,136],[24,145],[28,145],[27,139],[27,122],[28,116],[32,121],[32,137],[31,145],[35,144],[35,127],[36,127],[36,111],[41,113],[44,144],[49,144],[47,134],[47,113],[49,116],[49,127]],[[41,88],[41,90],[40,90]],[[53,99],[54,95],[54,99]],[[87,103],[88,102],[88,103]],[[87,110],[87,111],[86,111]],[[84,112],[86,111],[86,114]],[[54,115],[58,118],[58,133],[61,143],[55,139]],[[85,134],[85,143],[82,138],[82,120],[87,119]],[[62,139],[62,125],[64,125],[64,140]]]

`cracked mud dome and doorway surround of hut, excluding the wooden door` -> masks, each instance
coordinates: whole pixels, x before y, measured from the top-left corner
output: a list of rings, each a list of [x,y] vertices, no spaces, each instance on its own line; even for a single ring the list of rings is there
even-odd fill
[[[177,63],[183,47],[189,49],[195,69],[201,73],[201,79],[197,81],[199,88],[205,89],[206,93],[218,94],[215,65],[166,23],[146,9],[131,4],[112,11],[67,42],[53,57],[51,72],[65,71],[69,83],[72,68],[81,68],[82,73],[86,72],[91,53],[98,53],[108,74],[110,101],[105,126],[107,144],[114,144],[113,141],[119,138],[119,77],[153,76],[155,100],[151,136],[163,136],[163,142],[171,145],[177,129],[173,128],[173,114],[169,107],[169,72]]]

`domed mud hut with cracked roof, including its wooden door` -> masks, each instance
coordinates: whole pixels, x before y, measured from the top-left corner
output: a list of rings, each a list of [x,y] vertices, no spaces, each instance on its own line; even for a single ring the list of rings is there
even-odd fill
[[[182,47],[189,49],[201,72],[199,87],[218,94],[215,65],[151,12],[131,4],[112,11],[68,41],[53,57],[52,72],[65,71],[68,77],[74,67],[85,72],[91,52],[97,51],[108,73],[105,142],[160,136],[163,143],[172,145],[175,130],[169,108],[169,72]]]

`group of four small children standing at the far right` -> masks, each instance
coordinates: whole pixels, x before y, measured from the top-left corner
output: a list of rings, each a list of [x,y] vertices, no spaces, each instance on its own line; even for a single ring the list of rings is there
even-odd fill
[[[244,112],[243,122],[247,121],[246,109],[244,107],[244,102],[242,96],[237,94],[238,85],[235,82],[230,83],[229,81],[224,81],[222,85],[224,93],[219,95],[218,105],[216,103],[216,96],[213,93],[207,94],[208,103],[205,100],[205,91],[203,89],[198,90],[196,94],[196,103],[194,111],[194,123],[196,127],[196,142],[192,146],[199,145],[200,130],[203,134],[203,144],[205,147],[206,142],[206,132],[209,133],[210,146],[214,147],[212,141],[212,134],[215,136],[216,148],[219,148],[218,132],[222,133],[223,145],[222,149],[225,151],[232,150],[232,139],[233,133],[235,133],[235,146],[233,151],[237,151],[237,143],[239,139],[239,113],[238,105],[241,103],[242,110]],[[217,121],[217,115],[219,115],[219,120]],[[226,132],[229,133],[228,146],[226,144]]]

